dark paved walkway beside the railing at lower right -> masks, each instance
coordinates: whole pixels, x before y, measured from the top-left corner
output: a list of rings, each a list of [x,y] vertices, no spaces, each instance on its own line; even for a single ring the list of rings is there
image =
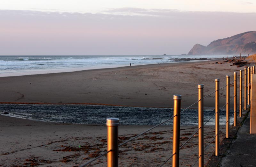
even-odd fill
[[[223,157],[221,167],[256,166],[256,134],[250,134],[250,113],[237,132],[237,138]]]

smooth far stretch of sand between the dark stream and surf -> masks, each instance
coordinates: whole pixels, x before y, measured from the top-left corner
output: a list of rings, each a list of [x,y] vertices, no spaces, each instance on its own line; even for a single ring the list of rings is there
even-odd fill
[[[181,106],[197,100],[197,84],[204,84],[204,95],[226,85],[226,75],[233,81],[234,72],[244,67],[222,60],[153,64],[113,69],[84,70],[28,76],[1,77],[0,102],[13,103],[82,103],[145,107],[172,107],[173,95],[182,95]],[[231,90],[231,95],[233,90]],[[225,98],[220,91],[220,99]],[[206,98],[205,107],[214,107],[214,96]],[[225,100],[220,100],[225,104]],[[197,106],[194,106],[195,108]]]

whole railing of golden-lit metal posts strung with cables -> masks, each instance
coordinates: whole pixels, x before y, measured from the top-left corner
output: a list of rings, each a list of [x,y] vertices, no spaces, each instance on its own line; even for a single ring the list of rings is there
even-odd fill
[[[254,69],[254,68],[253,68]],[[109,155],[109,153],[111,153],[111,157],[108,157],[108,160],[109,158],[111,159],[111,161],[113,161],[113,159],[118,159],[118,147],[121,147],[121,146],[124,146],[124,144],[138,138],[139,136],[147,133],[148,131],[164,124],[165,122],[169,121],[169,120],[172,120],[173,119],[173,154],[167,159],[164,161],[164,163],[162,163],[160,165],[160,167],[162,167],[165,163],[167,163],[171,158],[172,158],[172,166],[176,167],[176,166],[179,166],[179,160],[177,160],[177,156],[179,156],[179,152],[180,152],[180,149],[182,149],[194,136],[196,133],[198,133],[198,147],[199,147],[199,154],[198,154],[198,158],[196,160],[196,162],[192,165],[192,166],[195,166],[196,163],[198,163],[198,166],[199,167],[203,167],[204,166],[204,152],[209,148],[209,146],[212,144],[212,142],[214,141],[215,139],[215,144],[218,145],[218,147],[216,147],[217,149],[215,149],[215,155],[216,156],[219,156],[219,137],[220,137],[220,132],[222,131],[222,129],[227,126],[228,128],[226,128],[226,137],[228,136],[229,134],[229,120],[230,118],[234,115],[234,126],[236,126],[236,113],[237,113],[237,110],[240,108],[240,113],[242,112],[241,111],[241,107],[242,106],[242,100],[244,100],[244,103],[245,103],[245,107],[244,109],[246,109],[246,100],[248,99],[248,105],[250,104],[250,75],[254,74],[254,71],[253,72],[249,72],[248,70],[248,73],[246,73],[246,69],[245,69],[245,74],[242,75],[242,70],[240,70],[240,77],[236,77],[236,72],[234,72],[234,80],[232,82],[229,81],[229,77],[230,76],[226,76],[227,77],[227,84],[225,86],[222,86],[221,88],[219,88],[219,79],[215,79],[215,83],[216,83],[216,86],[215,86],[215,91],[211,92],[210,94],[206,95],[206,96],[203,96],[203,88],[204,88],[204,85],[202,84],[199,84],[198,85],[198,99],[195,103],[193,103],[192,105],[188,106],[187,108],[183,109],[182,111],[180,110],[180,101],[181,101],[181,95],[174,95],[175,98],[174,99],[174,111],[173,111],[173,114],[174,116],[172,116],[171,118],[157,124],[156,126],[154,127],[151,127],[149,129],[147,129],[146,131],[128,139],[127,141],[121,143],[121,144],[113,144],[111,146],[108,145],[108,151],[105,151],[103,154],[101,154],[100,156],[97,156],[96,158],[88,161],[87,163],[84,163],[83,165],[81,165],[80,167],[84,167],[90,163],[92,163],[93,161],[99,159],[100,157],[102,156],[105,156],[105,155]],[[247,83],[247,75],[248,75],[248,83]],[[242,79],[243,79],[243,76],[244,76],[244,87],[242,86],[243,85],[243,82],[242,82]],[[237,81],[240,79],[240,90],[237,92]],[[234,96],[230,99],[230,84],[234,83]],[[247,86],[248,86],[248,97],[247,97]],[[227,88],[227,102],[225,105],[223,105],[222,107],[219,107],[219,98],[220,98],[220,90],[223,89],[223,88]],[[244,98],[241,96],[242,94],[242,88],[244,88]],[[201,90],[201,93],[200,93],[200,89]],[[204,107],[203,107],[203,99],[211,96],[212,94],[215,93],[215,114],[213,114],[211,116],[210,119],[208,119],[207,121],[204,122],[204,118],[203,118],[203,115],[200,113],[202,112],[203,113],[203,110],[204,110]],[[236,103],[237,103],[237,96],[239,94],[239,97],[240,97],[240,102],[239,102],[239,105],[236,106]],[[234,112],[232,112],[231,115],[229,115],[229,103],[231,100],[234,99]],[[198,103],[198,128],[197,130],[188,138],[188,140],[186,142],[184,142],[181,146],[179,146],[180,144],[180,138],[177,138],[177,134],[174,134],[176,132],[174,132],[174,129],[179,129],[179,132],[180,133],[180,114],[183,113],[184,111],[188,110],[190,107],[192,107],[193,105],[196,105]],[[176,104],[176,105],[175,105]],[[178,106],[177,106],[178,105]],[[226,106],[226,112],[227,112],[227,121],[225,122],[225,124],[220,128],[219,127],[219,119],[220,119],[220,111]],[[175,112],[177,112],[175,114]],[[241,114],[242,115],[242,114]],[[215,136],[211,139],[211,141],[209,142],[209,144],[204,148],[204,142],[203,142],[203,136],[201,136],[202,132],[204,131],[204,126],[210,121],[213,119],[213,117],[215,116]],[[200,118],[201,117],[201,118]],[[111,120],[112,118],[109,118],[110,120],[107,119],[107,127],[108,127],[108,131],[110,130],[112,135],[116,135],[116,136],[111,136],[112,138],[115,137],[116,138],[116,142],[118,141],[118,134],[117,134],[117,129],[118,129],[118,124],[119,124],[119,119],[117,118],[113,118],[114,120]],[[178,120],[177,120],[178,119]],[[202,124],[200,123],[203,122]],[[176,125],[178,122],[179,125]],[[108,133],[111,134],[111,133]],[[201,133],[201,134],[200,134]],[[176,137],[175,137],[176,135]],[[178,135],[180,136],[180,134]],[[228,137],[227,137],[228,138]],[[201,140],[201,141],[200,141]],[[113,142],[113,141],[112,141]],[[114,141],[115,142],[115,141]],[[178,144],[177,144],[178,142]],[[201,142],[201,144],[200,144]],[[202,143],[203,142],[203,143]],[[176,143],[176,146],[175,146],[175,143]],[[116,145],[116,146],[114,146]],[[178,148],[177,148],[178,146]],[[110,149],[109,149],[110,148]],[[200,149],[201,148],[201,149]],[[202,150],[202,151],[200,151]],[[179,157],[178,157],[179,159]],[[198,162],[199,160],[199,162]],[[109,161],[108,161],[109,162]],[[113,161],[114,162],[114,161]],[[114,167],[116,166],[115,162],[113,163],[111,162],[111,167]],[[117,161],[116,161],[117,162]]]

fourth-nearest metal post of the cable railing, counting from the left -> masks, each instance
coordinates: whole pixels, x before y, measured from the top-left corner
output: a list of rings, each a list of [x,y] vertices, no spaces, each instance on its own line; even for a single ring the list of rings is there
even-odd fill
[[[220,79],[215,79],[215,156],[219,156],[220,146]]]

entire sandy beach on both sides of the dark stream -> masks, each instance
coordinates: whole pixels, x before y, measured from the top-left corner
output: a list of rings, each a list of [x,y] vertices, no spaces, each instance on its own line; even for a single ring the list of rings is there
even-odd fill
[[[222,62],[222,60],[218,60]],[[204,94],[212,93],[215,78],[220,87],[226,75],[244,67],[215,61],[154,64],[68,73],[12,76],[0,79],[0,102],[8,103],[83,103],[147,107],[172,107],[174,94],[182,95],[182,107],[197,101],[197,84]],[[231,95],[233,93],[230,89]],[[220,91],[224,105],[225,89]],[[214,107],[214,95],[204,100]],[[230,105],[232,108],[232,104]],[[196,108],[197,105],[194,106]],[[120,126],[119,142],[151,126]],[[197,127],[181,127],[181,143]],[[214,127],[205,127],[205,147],[215,136]],[[225,130],[223,130],[224,132]],[[76,167],[106,150],[105,125],[60,124],[25,120],[0,115],[0,166]],[[197,134],[181,149],[180,166],[191,166],[197,159]],[[172,126],[160,126],[119,150],[119,166],[159,166],[172,154]],[[223,134],[220,139],[224,138]],[[80,146],[80,147],[79,147]],[[205,162],[214,152],[211,144]],[[171,161],[166,165],[170,165]],[[106,166],[106,156],[90,166]]]

